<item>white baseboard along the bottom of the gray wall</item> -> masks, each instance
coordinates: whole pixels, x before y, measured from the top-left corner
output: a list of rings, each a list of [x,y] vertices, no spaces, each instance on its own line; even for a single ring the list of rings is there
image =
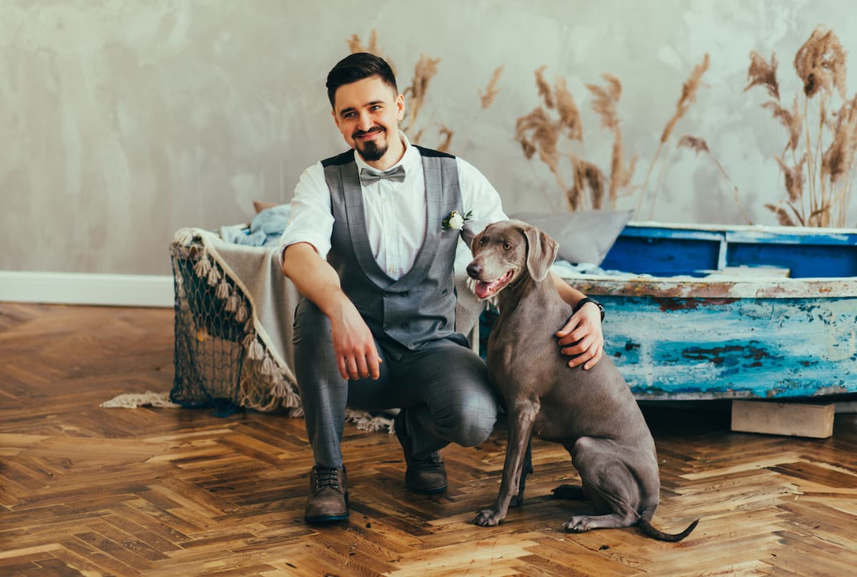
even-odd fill
[[[0,271],[0,302],[172,307],[171,276]]]

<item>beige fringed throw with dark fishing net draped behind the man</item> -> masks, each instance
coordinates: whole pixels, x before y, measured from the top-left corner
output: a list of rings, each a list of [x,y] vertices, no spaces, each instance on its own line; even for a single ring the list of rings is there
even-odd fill
[[[469,334],[482,303],[466,288],[470,251],[456,261],[456,330]],[[276,248],[228,243],[217,234],[183,228],[171,244],[175,278],[176,376],[170,400],[213,406],[221,415],[238,407],[303,414],[292,367],[294,310],[300,298],[283,275]],[[363,428],[388,420],[351,413]],[[383,422],[381,422],[383,421]]]

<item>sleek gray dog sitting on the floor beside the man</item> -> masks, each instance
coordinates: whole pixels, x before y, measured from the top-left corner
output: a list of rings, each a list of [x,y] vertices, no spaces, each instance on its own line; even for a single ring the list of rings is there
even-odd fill
[[[535,433],[568,450],[583,482],[554,489],[556,496],[588,497],[598,513],[572,517],[563,525],[567,532],[637,525],[663,541],[686,538],[698,520],[678,534],[651,526],[661,490],[655,442],[619,371],[607,357],[590,370],[569,369],[556,346],[550,328],[559,330],[572,308],[548,278],[554,239],[507,220],[488,225],[470,249],[467,273],[476,281],[476,296],[499,299],[500,316],[488,339],[488,375],[506,402],[509,421],[500,494],[494,508],[473,522],[497,525],[513,496],[520,504]]]

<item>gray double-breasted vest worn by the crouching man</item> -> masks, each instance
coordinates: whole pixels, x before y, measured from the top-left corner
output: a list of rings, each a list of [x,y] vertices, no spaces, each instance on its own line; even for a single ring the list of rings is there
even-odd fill
[[[428,227],[417,261],[398,280],[387,276],[372,255],[354,151],[321,161],[334,218],[327,261],[372,334],[393,350],[397,345],[417,350],[455,334],[458,231],[441,231],[440,223],[453,210],[464,213],[458,167],[454,156],[417,150],[423,158]]]

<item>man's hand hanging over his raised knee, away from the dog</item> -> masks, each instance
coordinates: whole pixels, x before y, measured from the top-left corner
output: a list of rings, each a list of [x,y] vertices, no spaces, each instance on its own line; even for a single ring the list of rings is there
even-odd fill
[[[375,348],[375,338],[350,301],[344,302],[330,316],[330,326],[342,378],[357,381],[370,376],[377,381],[381,376],[381,358]]]

